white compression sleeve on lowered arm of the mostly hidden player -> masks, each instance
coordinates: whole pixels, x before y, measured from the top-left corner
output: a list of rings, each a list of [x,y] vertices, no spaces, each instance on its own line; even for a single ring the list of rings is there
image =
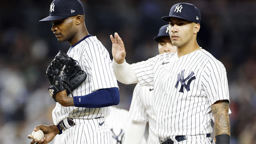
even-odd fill
[[[128,128],[125,134],[124,144],[140,144],[144,136],[146,122],[129,120]]]

